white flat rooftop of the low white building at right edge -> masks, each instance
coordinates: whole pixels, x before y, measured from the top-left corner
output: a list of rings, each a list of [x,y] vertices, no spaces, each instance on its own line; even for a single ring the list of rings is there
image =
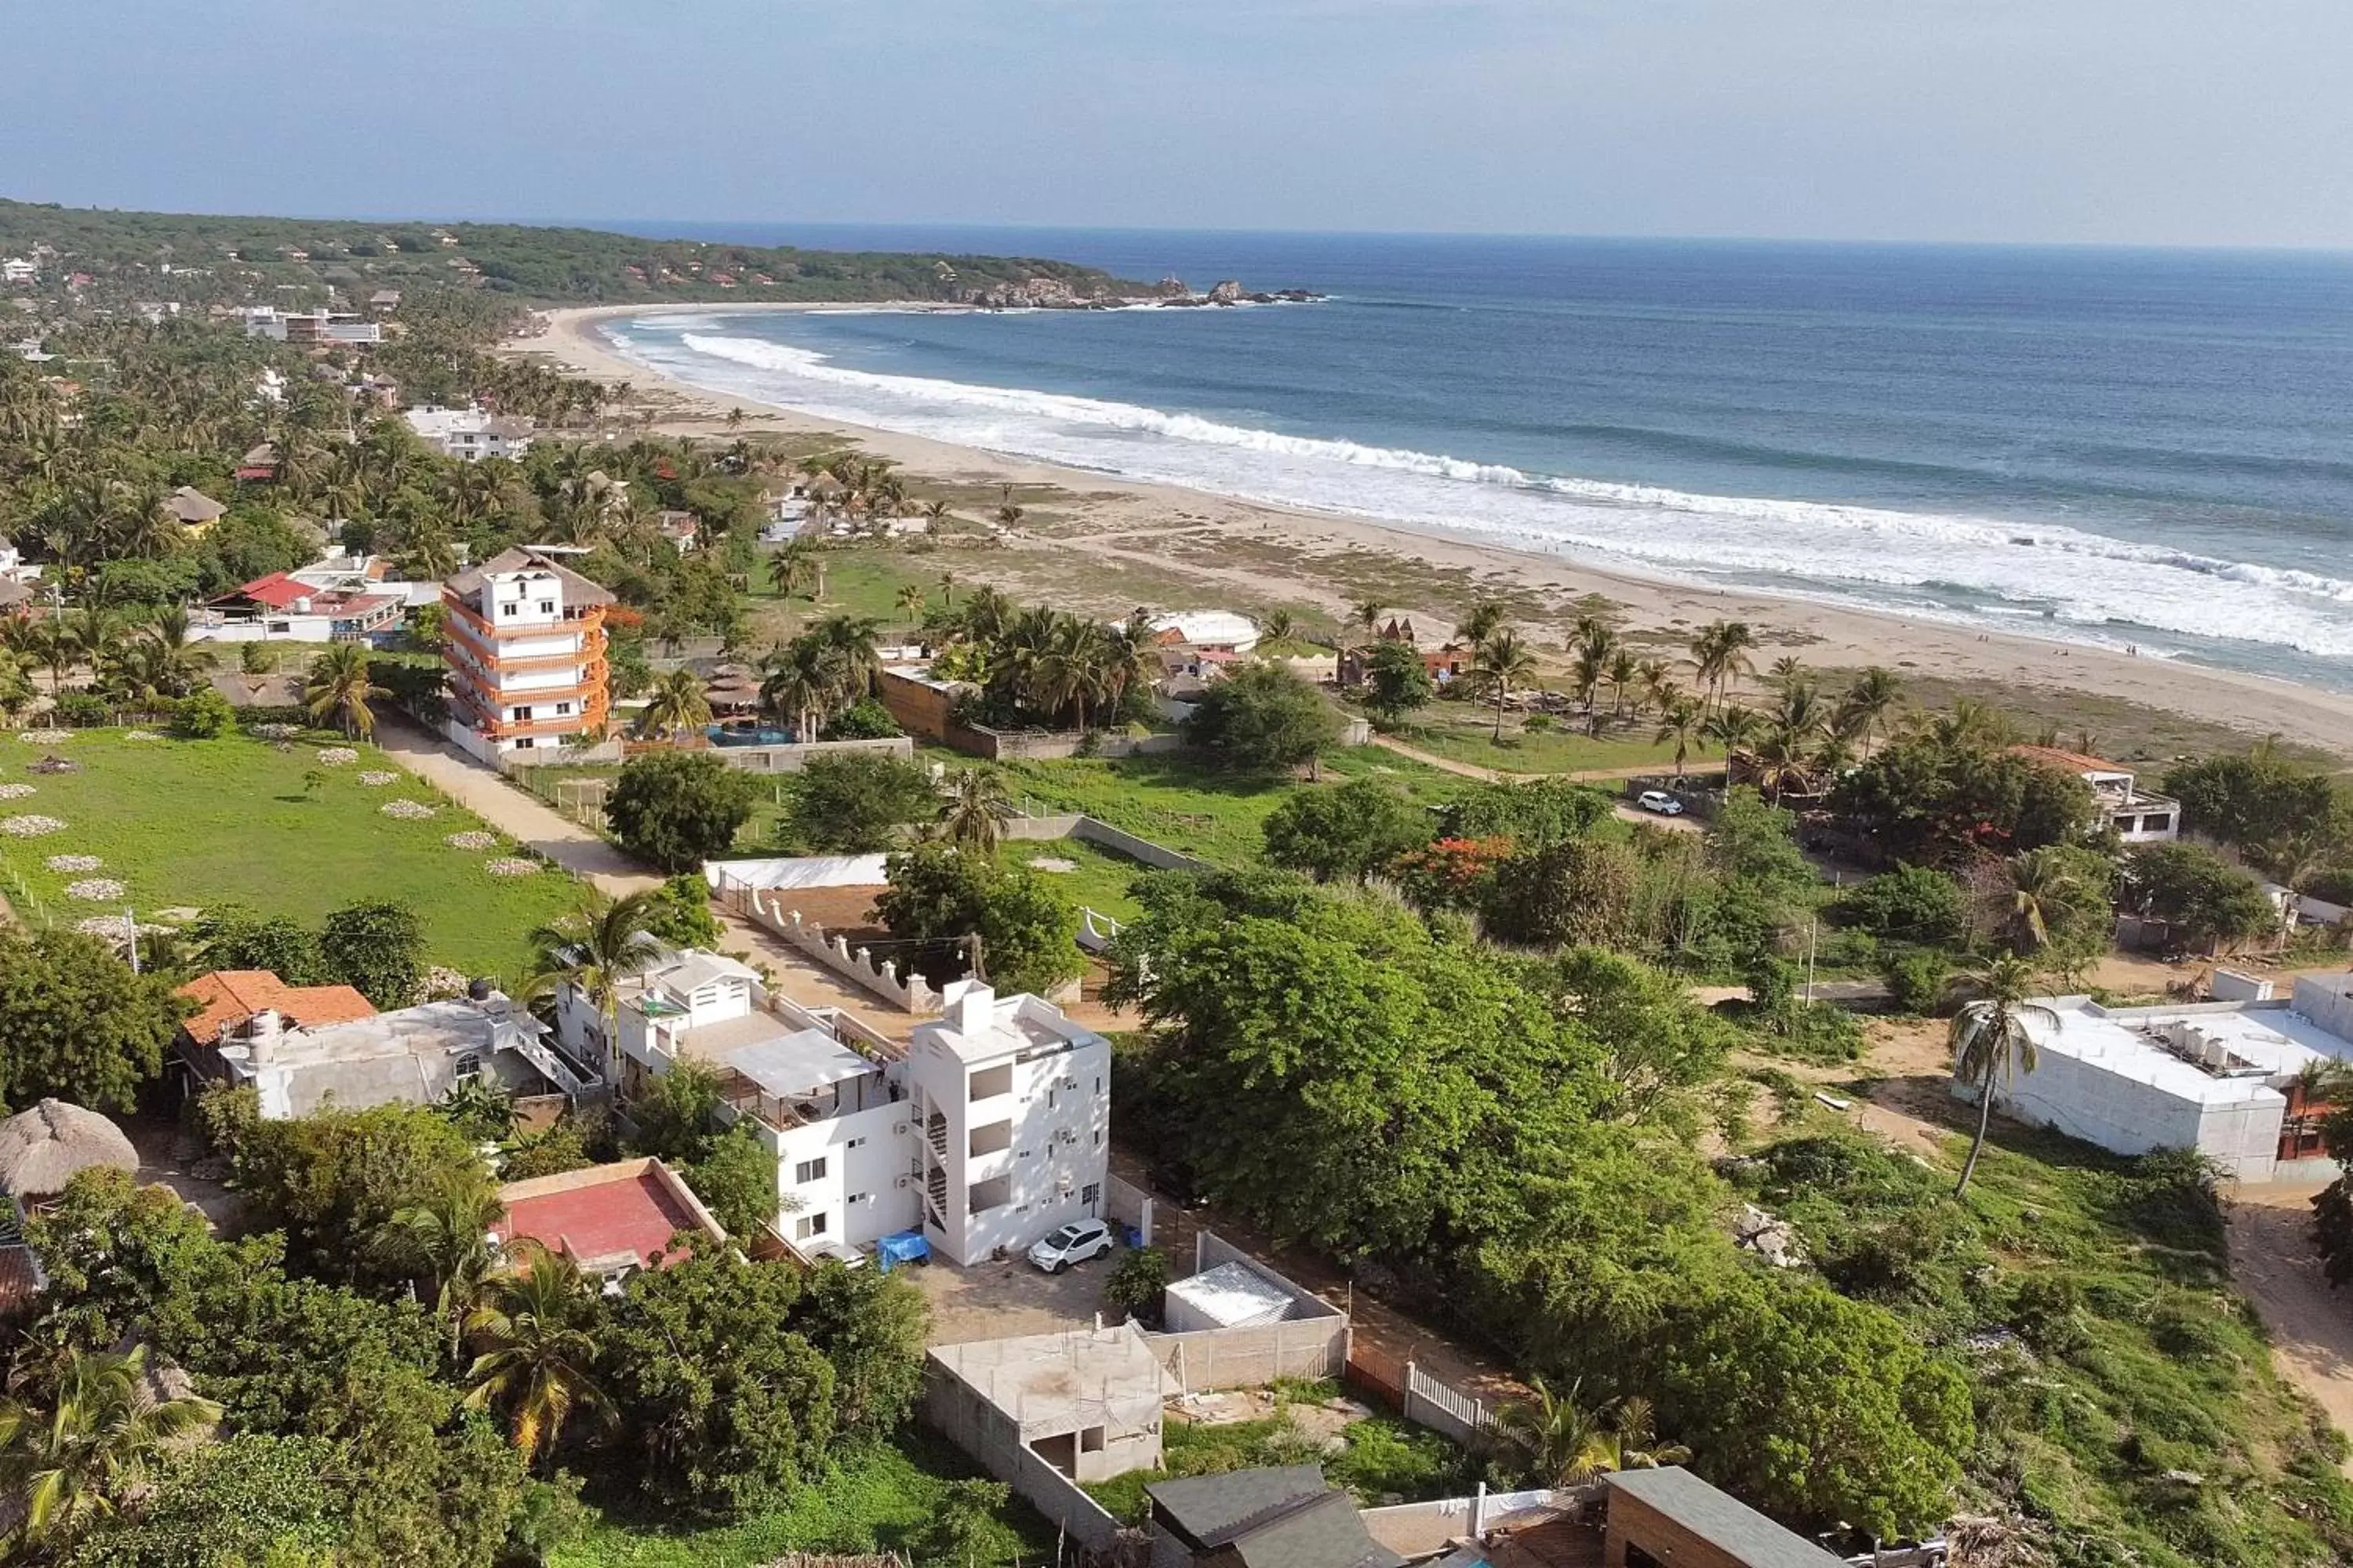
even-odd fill
[[[2325,1030],[2285,999],[2205,1001],[2181,1006],[2106,1009],[2089,997],[2049,997],[2059,1023],[2028,1016],[2038,1051],[2151,1084],[2200,1105],[2242,1105],[2273,1091],[2266,1084],[2299,1074],[2308,1063],[2353,1060],[2353,1041]],[[2207,1070],[2167,1048],[2165,1037],[2195,1030],[2240,1065]]]

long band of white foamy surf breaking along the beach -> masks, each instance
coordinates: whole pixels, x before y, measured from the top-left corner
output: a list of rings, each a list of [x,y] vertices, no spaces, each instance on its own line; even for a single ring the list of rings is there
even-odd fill
[[[614,343],[685,381],[993,451],[1699,581],[1734,576],[1927,614],[1974,599],[2099,642],[2146,628],[2353,656],[2353,581],[2315,571],[2064,524],[1539,475],[1132,402],[878,374],[788,343],[701,331],[711,317],[673,322],[638,324]]]

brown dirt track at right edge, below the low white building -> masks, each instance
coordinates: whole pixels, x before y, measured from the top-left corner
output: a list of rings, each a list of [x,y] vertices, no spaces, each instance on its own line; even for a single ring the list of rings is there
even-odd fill
[[[2353,1298],[2329,1288],[2320,1272],[2311,1237],[2315,1192],[2320,1182],[2240,1187],[2231,1197],[2231,1279],[2264,1314],[2280,1378],[2353,1434]]]

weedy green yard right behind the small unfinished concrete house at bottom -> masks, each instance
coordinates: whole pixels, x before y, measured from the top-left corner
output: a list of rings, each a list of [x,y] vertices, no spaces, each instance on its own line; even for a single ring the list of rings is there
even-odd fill
[[[1136,1469],[1085,1490],[1115,1519],[1141,1521],[1144,1488],[1151,1481],[1214,1476],[1254,1465],[1322,1462],[1325,1476],[1348,1488],[1358,1507],[1428,1502],[1478,1486],[1478,1465],[1447,1439],[1388,1415],[1348,1420],[1353,1406],[1337,1403],[1337,1394],[1327,1382],[1278,1385],[1275,1413],[1261,1420],[1202,1427],[1172,1418],[1160,1427],[1162,1469]],[[1341,1448],[1325,1453],[1332,1427]]]

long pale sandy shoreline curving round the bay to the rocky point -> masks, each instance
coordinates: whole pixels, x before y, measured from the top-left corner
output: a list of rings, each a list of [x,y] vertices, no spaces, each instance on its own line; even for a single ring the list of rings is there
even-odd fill
[[[541,310],[544,331],[508,339],[504,353],[551,355],[574,374],[595,381],[626,381],[640,390],[659,388],[678,409],[656,421],[664,430],[713,435],[729,409],[744,409],[744,430],[784,435],[840,435],[864,451],[885,456],[911,470],[958,484],[1014,484],[1061,491],[1052,503],[1056,515],[1071,515],[1085,531],[1040,534],[1024,543],[1066,548],[1101,564],[1139,567],[1146,559],[1167,571],[1195,578],[1205,590],[1224,588],[1245,604],[1271,599],[1346,614],[1346,595],[1318,583],[1299,564],[1285,569],[1266,559],[1252,562],[1249,545],[1282,545],[1308,555],[1386,557],[1402,576],[1417,567],[1468,574],[1492,585],[1513,585],[1551,599],[1600,595],[1619,607],[1621,632],[1633,632],[1642,651],[1666,651],[1699,625],[1718,618],[1748,621],[1758,630],[1755,663],[1762,670],[1781,654],[1793,654],[1817,668],[1887,665],[1897,675],[1953,682],[1988,682],[2035,691],[2073,691],[2092,698],[2127,701],[2162,712],[2193,715],[2224,724],[2257,741],[2280,733],[2287,741],[2315,745],[2341,759],[2353,759],[2353,693],[2322,691],[2287,679],[2217,670],[2181,658],[2127,656],[2085,642],[2061,642],[2021,632],[1988,632],[1965,623],[1927,616],[1826,604],[1800,595],[1758,588],[1701,588],[1668,578],[1647,578],[1617,567],[1593,567],[1569,555],[1515,550],[1447,534],[1419,531],[1405,524],[1344,512],[1322,512],[1264,501],[1240,501],[1212,491],[1184,489],[1115,473],[1068,468],[1014,454],[958,447],[922,435],[880,430],[840,418],[824,418],[786,404],[732,397],[678,381],[624,357],[595,331],[595,322],[638,315],[675,313],[769,313],[769,310],[969,310],[925,301],[758,301],[699,306],[569,306]],[[1202,548],[1186,550],[1181,541],[1205,534]],[[1242,550],[1219,559],[1221,548]],[[1261,557],[1266,550],[1259,552]],[[1233,564],[1242,562],[1242,564]],[[1445,628],[1452,614],[1440,602],[1414,604],[1400,585],[1391,614],[1407,614],[1421,625]],[[1558,644],[1574,614],[1529,621],[1539,642]]]

